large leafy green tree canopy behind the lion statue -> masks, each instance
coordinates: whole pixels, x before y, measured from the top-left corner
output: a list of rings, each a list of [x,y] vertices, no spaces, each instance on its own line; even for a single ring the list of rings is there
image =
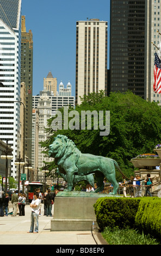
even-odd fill
[[[73,110],[79,113],[79,130],[64,130],[63,123],[61,130],[53,131],[51,124],[54,118],[51,118],[48,120],[49,128],[46,129],[51,136],[46,142],[41,142],[42,147],[48,150],[48,145],[53,142],[54,137],[58,134],[65,135],[75,142],[82,153],[102,155],[116,160],[122,172],[129,177],[134,170],[129,161],[139,154],[153,153],[154,146],[161,143],[161,108],[157,103],[146,101],[130,91],[110,93],[109,96],[104,96],[103,91],[84,95],[82,103],[75,108],[69,107],[68,112]],[[64,119],[64,108],[59,111],[62,121],[67,120]],[[103,111],[104,124],[105,113],[110,111],[109,135],[100,136],[99,119],[98,130],[94,130],[94,117],[91,117],[91,130],[81,130],[82,111]],[[73,116],[68,117],[68,122],[71,121],[73,126],[76,126],[78,117],[75,119]],[[120,179],[120,174],[117,173],[116,178]]]

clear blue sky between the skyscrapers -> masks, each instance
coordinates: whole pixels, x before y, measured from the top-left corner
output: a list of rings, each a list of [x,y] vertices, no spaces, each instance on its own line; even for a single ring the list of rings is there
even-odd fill
[[[76,21],[108,21],[109,63],[110,0],[22,0],[22,15],[26,31],[33,33],[33,95],[43,90],[44,77],[51,71],[58,86],[70,81],[75,96]]]

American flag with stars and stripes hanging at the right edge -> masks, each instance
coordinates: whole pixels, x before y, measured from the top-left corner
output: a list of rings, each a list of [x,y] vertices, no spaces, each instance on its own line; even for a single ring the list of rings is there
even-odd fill
[[[158,57],[158,54],[155,53],[154,59],[154,83],[153,90],[155,93],[161,93],[161,60]]]

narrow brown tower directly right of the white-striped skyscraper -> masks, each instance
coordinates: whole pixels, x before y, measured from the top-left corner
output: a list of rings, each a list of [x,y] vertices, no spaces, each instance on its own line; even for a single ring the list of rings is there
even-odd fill
[[[26,17],[21,28],[21,82],[26,86],[25,154],[32,158],[33,34],[26,32]]]

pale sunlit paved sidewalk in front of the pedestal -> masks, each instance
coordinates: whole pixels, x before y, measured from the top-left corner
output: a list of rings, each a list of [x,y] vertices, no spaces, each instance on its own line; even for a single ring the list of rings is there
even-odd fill
[[[9,203],[9,212],[13,210]],[[50,231],[52,217],[44,215],[44,204],[39,217],[39,233],[27,233],[30,228],[31,208],[25,206],[25,216],[0,217],[0,245],[102,245],[101,234],[89,231]],[[52,208],[53,214],[53,208]],[[101,241],[100,241],[101,240]]]

